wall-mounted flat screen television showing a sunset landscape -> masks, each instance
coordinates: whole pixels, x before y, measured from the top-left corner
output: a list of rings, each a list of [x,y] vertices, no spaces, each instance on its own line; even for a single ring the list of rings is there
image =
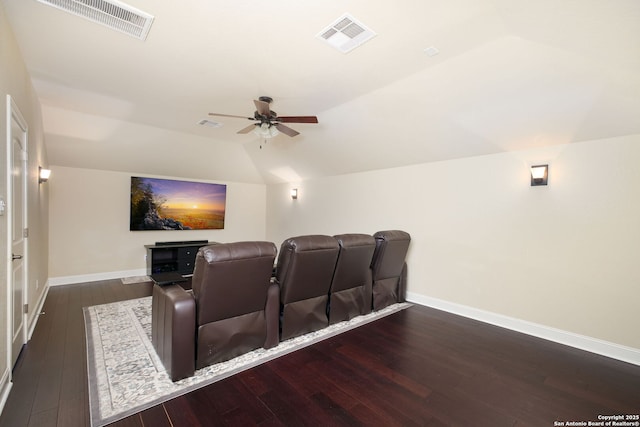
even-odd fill
[[[129,229],[223,229],[226,202],[223,184],[132,176]]]

